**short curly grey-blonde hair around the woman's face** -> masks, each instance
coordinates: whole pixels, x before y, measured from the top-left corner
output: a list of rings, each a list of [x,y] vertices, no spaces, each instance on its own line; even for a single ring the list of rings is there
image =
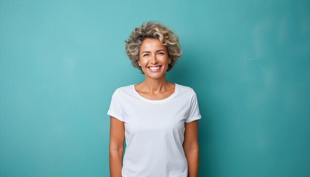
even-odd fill
[[[166,46],[168,56],[171,57],[167,71],[172,69],[176,64],[176,60],[181,59],[182,50],[179,38],[158,21],[144,22],[140,28],[135,28],[135,31],[131,32],[128,41],[125,41],[125,51],[131,65],[139,68],[141,74],[144,74],[144,72],[137,60],[139,59],[140,46],[145,39],[158,39],[162,45]]]

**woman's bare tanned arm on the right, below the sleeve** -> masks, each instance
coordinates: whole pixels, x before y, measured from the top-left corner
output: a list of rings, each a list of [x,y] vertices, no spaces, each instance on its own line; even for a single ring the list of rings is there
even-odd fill
[[[188,163],[188,177],[198,175],[198,120],[185,124],[183,149]]]

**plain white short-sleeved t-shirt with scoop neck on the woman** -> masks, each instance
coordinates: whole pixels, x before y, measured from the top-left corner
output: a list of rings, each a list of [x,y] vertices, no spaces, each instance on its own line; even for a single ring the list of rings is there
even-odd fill
[[[142,97],[134,85],[117,88],[107,114],[124,122],[122,177],[187,177],[184,122],[201,119],[196,92],[175,83],[161,100]]]

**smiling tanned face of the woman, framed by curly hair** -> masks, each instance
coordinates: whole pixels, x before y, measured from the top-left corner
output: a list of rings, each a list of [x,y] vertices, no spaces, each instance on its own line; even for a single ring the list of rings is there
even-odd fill
[[[140,46],[138,63],[146,77],[156,79],[165,76],[171,57],[168,56],[167,47],[158,39],[145,39]],[[154,66],[159,68],[152,68]]]

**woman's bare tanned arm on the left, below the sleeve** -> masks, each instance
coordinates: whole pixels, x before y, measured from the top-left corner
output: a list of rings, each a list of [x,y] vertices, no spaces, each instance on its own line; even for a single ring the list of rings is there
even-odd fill
[[[109,166],[110,177],[121,177],[124,152],[124,122],[110,116]]]

